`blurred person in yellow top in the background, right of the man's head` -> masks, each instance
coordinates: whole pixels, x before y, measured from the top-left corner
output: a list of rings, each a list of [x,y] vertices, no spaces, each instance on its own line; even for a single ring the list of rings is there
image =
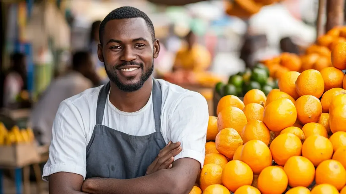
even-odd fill
[[[186,44],[177,52],[173,71],[205,71],[211,65],[211,54],[197,43],[196,35],[190,31],[185,37]]]

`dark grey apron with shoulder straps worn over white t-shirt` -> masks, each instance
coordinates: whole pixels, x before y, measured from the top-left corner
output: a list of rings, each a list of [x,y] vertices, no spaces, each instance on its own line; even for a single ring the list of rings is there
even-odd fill
[[[166,145],[161,134],[162,91],[153,79],[155,132],[144,136],[129,135],[102,125],[110,83],[104,85],[97,99],[96,125],[86,147],[86,177],[129,179],[144,176],[148,166]],[[154,126],[147,126],[154,127]]]

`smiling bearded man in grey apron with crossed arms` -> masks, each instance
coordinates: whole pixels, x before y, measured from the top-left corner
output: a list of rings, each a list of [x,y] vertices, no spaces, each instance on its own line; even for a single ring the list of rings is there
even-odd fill
[[[113,10],[99,34],[110,82],[60,104],[43,171],[49,193],[189,193],[204,162],[206,99],[152,78],[160,43],[142,11]]]

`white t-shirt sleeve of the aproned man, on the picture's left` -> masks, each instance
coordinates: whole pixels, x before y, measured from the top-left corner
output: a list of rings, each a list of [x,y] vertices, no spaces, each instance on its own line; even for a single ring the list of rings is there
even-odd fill
[[[43,180],[58,172],[86,175],[86,138],[78,109],[64,100],[56,113],[49,146],[49,158],[43,169]]]

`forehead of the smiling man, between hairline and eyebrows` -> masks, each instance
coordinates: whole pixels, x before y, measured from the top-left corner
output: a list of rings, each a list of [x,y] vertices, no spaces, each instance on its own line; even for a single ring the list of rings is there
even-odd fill
[[[113,19],[108,21],[104,27],[104,42],[109,39],[126,41],[126,39],[139,37],[151,39],[148,26],[143,18]]]

